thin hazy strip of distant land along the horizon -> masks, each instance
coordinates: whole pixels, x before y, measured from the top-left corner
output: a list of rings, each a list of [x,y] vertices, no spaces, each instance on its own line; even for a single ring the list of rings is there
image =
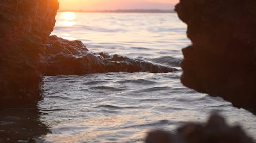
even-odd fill
[[[58,12],[88,12],[88,13],[175,13],[174,10],[160,9],[127,9],[127,10],[58,10]]]

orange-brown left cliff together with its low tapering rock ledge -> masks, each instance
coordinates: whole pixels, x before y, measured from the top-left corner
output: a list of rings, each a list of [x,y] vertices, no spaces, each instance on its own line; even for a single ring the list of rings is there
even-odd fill
[[[35,106],[44,75],[177,70],[146,60],[92,53],[81,41],[49,36],[58,8],[57,0],[1,2],[0,107]]]

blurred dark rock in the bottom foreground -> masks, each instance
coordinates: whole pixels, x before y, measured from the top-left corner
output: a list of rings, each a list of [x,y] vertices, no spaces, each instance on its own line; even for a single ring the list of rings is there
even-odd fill
[[[156,130],[148,134],[146,143],[253,143],[240,126],[230,127],[220,115],[211,115],[207,123],[188,123],[176,133]]]

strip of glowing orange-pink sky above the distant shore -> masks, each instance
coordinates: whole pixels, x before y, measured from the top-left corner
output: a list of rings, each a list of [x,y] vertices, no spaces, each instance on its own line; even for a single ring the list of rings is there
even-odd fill
[[[179,0],[59,0],[60,10],[173,9]]]

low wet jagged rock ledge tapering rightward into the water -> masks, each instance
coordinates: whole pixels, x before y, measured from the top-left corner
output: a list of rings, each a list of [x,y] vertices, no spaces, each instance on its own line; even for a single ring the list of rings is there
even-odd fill
[[[172,72],[177,69],[141,59],[89,52],[81,41],[50,36],[46,43],[45,75],[83,75],[106,72]]]

